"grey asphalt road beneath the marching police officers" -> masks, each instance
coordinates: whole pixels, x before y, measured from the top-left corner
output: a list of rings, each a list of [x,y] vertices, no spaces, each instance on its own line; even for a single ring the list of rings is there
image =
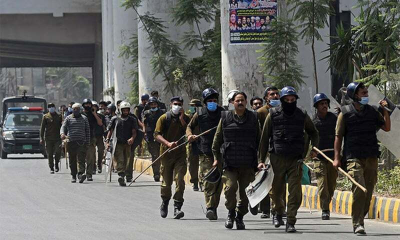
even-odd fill
[[[37,158],[35,158],[37,156]],[[129,187],[105,185],[104,175],[93,181],[71,183],[69,169],[50,174],[47,159],[39,155],[10,155],[0,159],[0,239],[359,239],[352,233],[349,216],[332,215],[320,220],[320,212],[301,208],[297,233],[274,228],[271,219],[248,213],[246,230],[223,226],[226,209],[221,202],[217,221],[202,213],[202,192],[190,187],[184,193],[182,219],[159,216],[159,183],[143,176]],[[137,174],[137,173],[135,173]],[[222,196],[222,199],[223,196]],[[368,239],[400,239],[400,225],[366,220]]]

